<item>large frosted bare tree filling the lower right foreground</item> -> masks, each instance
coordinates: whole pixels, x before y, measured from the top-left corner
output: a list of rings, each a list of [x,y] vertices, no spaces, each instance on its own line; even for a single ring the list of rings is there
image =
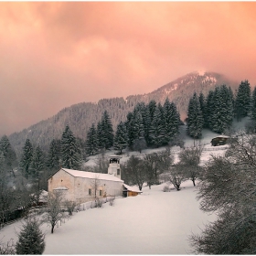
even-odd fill
[[[212,156],[198,187],[200,208],[218,219],[190,237],[194,253],[255,254],[256,134],[238,133],[224,156]]]

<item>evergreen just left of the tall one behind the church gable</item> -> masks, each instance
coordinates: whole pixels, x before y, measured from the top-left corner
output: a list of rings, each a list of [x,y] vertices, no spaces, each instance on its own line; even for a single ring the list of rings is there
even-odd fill
[[[50,170],[59,169],[60,141],[53,139],[49,145],[47,166]]]

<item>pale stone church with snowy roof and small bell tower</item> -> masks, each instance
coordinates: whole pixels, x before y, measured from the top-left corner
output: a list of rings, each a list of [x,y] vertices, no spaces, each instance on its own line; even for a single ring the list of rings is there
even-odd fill
[[[124,185],[121,179],[120,158],[119,155],[110,156],[108,174],[61,168],[48,178],[48,192],[59,191],[65,199],[76,203],[96,197],[136,196],[141,192]]]

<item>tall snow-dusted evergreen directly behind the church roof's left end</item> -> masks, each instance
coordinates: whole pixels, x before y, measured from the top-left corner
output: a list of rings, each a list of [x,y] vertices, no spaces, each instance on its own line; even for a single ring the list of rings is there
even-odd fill
[[[80,148],[69,125],[66,126],[61,136],[61,161],[64,168],[80,168]]]

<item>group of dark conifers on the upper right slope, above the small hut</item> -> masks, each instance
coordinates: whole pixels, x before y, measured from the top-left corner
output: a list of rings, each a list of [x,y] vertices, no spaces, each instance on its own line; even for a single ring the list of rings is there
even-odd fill
[[[202,129],[208,128],[216,133],[225,133],[232,125],[235,118],[250,116],[256,121],[256,88],[251,93],[248,80],[241,81],[235,94],[230,87],[221,85],[214,91],[208,91],[205,96],[202,92],[194,93],[189,100],[187,108],[187,133],[198,139]]]

